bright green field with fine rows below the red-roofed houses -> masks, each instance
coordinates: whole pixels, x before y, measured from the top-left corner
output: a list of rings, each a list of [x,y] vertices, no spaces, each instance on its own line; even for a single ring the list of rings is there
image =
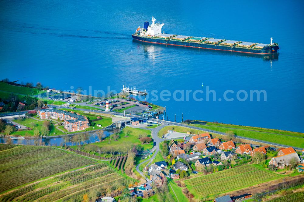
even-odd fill
[[[200,198],[226,193],[280,177],[282,175],[247,164],[185,180],[185,185],[196,198]]]

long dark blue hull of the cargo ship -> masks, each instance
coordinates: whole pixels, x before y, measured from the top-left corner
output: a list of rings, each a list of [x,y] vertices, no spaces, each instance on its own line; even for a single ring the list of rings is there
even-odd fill
[[[162,39],[157,37],[147,37],[147,36],[141,36],[140,33],[132,34],[132,37],[133,39],[136,39],[138,41],[155,43],[155,44],[175,45],[175,46],[184,46],[191,48],[242,52],[242,53],[252,53],[252,54],[272,54],[278,52],[279,49],[279,46],[277,44],[268,45],[261,49],[256,49],[256,48],[229,46],[229,45],[209,44],[204,42],[190,42],[190,41],[179,41],[173,39]]]

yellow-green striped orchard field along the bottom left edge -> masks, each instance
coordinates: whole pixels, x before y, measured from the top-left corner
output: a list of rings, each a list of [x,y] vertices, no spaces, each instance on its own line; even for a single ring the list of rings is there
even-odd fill
[[[106,163],[59,173],[0,195],[0,201],[83,201],[118,192],[135,180],[123,177]]]

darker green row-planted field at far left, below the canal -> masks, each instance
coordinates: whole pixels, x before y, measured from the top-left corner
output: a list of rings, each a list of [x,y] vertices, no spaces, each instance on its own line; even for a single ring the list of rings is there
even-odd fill
[[[52,147],[15,146],[2,150],[0,151],[0,193],[92,163],[96,161]]]

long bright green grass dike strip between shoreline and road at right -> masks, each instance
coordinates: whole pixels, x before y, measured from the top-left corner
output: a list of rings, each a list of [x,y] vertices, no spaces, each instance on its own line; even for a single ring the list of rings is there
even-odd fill
[[[238,136],[244,136],[244,137],[254,138],[254,139],[258,139],[258,140],[264,140],[264,141],[268,141],[268,142],[304,148],[303,138],[296,137],[296,136],[285,136],[285,135],[280,135],[280,134],[264,133],[264,132],[261,133],[261,132],[257,132],[257,131],[230,129],[230,128],[223,128],[223,127],[217,127],[217,126],[204,126],[204,125],[199,125],[199,124],[191,124],[191,125],[200,127],[202,129],[205,128],[205,129],[210,129],[210,130],[216,130],[216,131],[223,132],[223,133],[232,130]]]

